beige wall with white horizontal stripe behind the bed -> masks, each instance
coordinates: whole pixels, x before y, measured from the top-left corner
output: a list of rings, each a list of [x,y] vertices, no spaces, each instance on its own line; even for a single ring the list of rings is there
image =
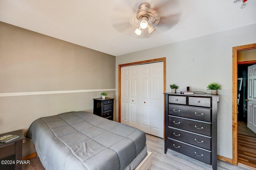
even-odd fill
[[[86,41],[86,40],[85,40]],[[115,57],[0,22],[0,94],[115,89]],[[115,91],[107,91],[114,97]],[[101,91],[0,97],[0,134],[68,111],[92,113]],[[24,144],[23,155],[33,152]]]

